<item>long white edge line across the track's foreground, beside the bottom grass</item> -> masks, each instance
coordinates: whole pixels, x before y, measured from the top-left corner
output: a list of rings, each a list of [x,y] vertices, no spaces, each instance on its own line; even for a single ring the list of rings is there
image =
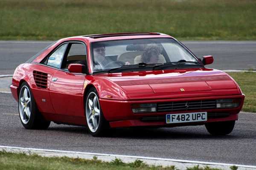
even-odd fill
[[[253,165],[243,165],[243,164],[227,164],[227,163],[218,163],[218,162],[207,162],[207,161],[191,161],[191,160],[182,160],[182,159],[168,159],[168,158],[156,158],[156,157],[145,157],[145,156],[128,156],[128,155],[118,155],[118,154],[108,154],[108,153],[90,153],[90,152],[78,152],[78,151],[67,151],[67,150],[51,150],[51,149],[38,149],[30,147],[10,147],[0,145],[2,149],[18,149],[18,150],[33,150],[33,151],[44,151],[44,152],[55,152],[55,153],[73,153],[73,154],[84,154],[84,155],[93,155],[93,156],[112,156],[112,157],[123,157],[123,158],[134,158],[134,159],[148,159],[148,160],[157,160],[157,161],[172,161],[179,163],[191,163],[191,164],[204,164],[204,165],[220,165],[220,166],[237,166],[244,168],[256,168]]]

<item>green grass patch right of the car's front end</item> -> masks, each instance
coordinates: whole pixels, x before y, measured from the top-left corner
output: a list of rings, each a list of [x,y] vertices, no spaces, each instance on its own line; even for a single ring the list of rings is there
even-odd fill
[[[242,111],[256,113],[256,73],[230,72],[228,74],[236,80],[245,94]]]

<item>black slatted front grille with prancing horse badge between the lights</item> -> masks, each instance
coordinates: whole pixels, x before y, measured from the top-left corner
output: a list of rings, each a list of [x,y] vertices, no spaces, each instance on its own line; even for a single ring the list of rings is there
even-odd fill
[[[157,112],[172,112],[172,111],[193,111],[215,109],[216,100],[197,100],[183,102],[165,102],[157,103]]]

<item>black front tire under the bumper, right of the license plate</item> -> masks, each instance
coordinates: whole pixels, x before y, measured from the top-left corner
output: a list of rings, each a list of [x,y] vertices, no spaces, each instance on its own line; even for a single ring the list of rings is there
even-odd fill
[[[226,122],[211,122],[205,124],[205,127],[211,135],[221,136],[231,133],[234,129],[235,122],[235,120]]]

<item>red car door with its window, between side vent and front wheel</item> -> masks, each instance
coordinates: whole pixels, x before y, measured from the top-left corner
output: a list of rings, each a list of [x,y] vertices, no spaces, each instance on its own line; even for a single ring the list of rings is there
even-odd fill
[[[87,65],[87,49],[82,42],[69,42],[60,69],[50,83],[50,97],[55,114],[62,115],[61,122],[84,124],[83,85],[86,74],[73,74],[67,69],[71,63]]]

